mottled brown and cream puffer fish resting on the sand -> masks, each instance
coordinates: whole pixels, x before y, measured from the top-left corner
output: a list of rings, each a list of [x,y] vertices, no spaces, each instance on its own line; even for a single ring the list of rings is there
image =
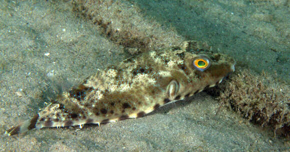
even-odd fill
[[[142,117],[160,106],[215,86],[234,71],[234,65],[233,58],[203,49],[196,41],[145,52],[116,66],[98,69],[6,134],[34,128],[81,128],[84,124]]]

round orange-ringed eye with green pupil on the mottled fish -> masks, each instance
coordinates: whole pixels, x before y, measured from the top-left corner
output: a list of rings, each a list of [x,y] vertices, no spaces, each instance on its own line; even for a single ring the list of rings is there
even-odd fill
[[[210,59],[205,55],[199,55],[193,58],[193,67],[198,71],[204,71],[210,66]]]

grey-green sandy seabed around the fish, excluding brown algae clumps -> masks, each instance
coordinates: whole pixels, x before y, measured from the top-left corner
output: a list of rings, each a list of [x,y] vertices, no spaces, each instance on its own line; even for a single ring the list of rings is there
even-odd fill
[[[5,130],[32,117],[46,101],[77,85],[97,68],[118,63],[131,47],[141,46],[125,43],[125,37],[118,39],[124,27],[151,35],[145,39],[145,49],[170,47],[185,39],[202,40],[212,51],[233,56],[236,68],[276,73],[281,81],[289,82],[287,0],[117,0],[119,5],[97,9],[101,17],[113,22],[109,27],[102,26],[106,18],[98,25],[93,23],[97,17],[87,18],[86,13],[82,17],[73,11],[75,1],[0,1],[1,152],[290,150],[287,139],[274,137],[224,107],[219,109],[219,103],[204,92],[143,118],[100,127],[86,125],[81,130],[41,129],[6,136]],[[84,8],[92,9],[87,3]],[[112,13],[117,9],[124,14],[137,13],[127,15],[134,19],[122,18]],[[119,31],[112,36],[107,28]],[[136,41],[144,40],[138,38],[142,35],[133,36]]]

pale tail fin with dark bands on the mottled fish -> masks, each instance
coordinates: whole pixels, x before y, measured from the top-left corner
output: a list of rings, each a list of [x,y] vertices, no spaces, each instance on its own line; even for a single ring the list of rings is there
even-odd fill
[[[9,136],[11,135],[16,135],[16,134],[20,134],[20,133],[24,133],[27,132],[31,129],[35,128],[36,122],[38,120],[39,115],[35,115],[32,119],[30,120],[26,120],[23,123],[19,124],[16,127],[12,127],[10,129],[8,129],[5,134],[8,134]]]

